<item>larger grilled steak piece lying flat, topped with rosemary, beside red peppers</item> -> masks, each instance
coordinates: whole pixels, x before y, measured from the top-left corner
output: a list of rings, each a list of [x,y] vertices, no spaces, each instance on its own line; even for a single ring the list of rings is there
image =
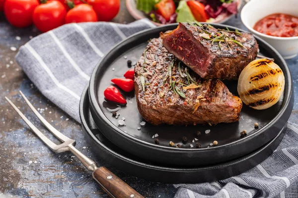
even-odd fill
[[[241,99],[233,96],[222,81],[201,81],[179,62],[162,46],[160,38],[149,42],[137,62],[135,93],[139,111],[148,122],[184,125],[239,120]]]

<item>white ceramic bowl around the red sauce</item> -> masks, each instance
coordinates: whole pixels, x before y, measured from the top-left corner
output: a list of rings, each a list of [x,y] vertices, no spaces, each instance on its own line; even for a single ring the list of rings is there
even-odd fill
[[[290,14],[298,17],[298,0],[250,0],[241,11],[241,20],[246,28],[271,44],[285,58],[298,54],[298,37],[273,37],[253,29],[257,21],[274,13]]]

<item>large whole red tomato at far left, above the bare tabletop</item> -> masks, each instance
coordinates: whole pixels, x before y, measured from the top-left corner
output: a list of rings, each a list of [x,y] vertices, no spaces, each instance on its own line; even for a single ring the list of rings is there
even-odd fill
[[[5,17],[15,27],[27,27],[32,24],[32,13],[38,4],[38,0],[5,0]]]

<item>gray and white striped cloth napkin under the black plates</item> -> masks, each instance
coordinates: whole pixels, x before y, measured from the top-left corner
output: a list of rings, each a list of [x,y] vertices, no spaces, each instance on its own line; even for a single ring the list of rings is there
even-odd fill
[[[154,27],[147,19],[67,24],[19,49],[17,63],[40,92],[79,122],[79,99],[93,68],[114,45]],[[214,183],[179,184],[176,198],[298,198],[298,128],[288,124],[276,151],[255,168]]]

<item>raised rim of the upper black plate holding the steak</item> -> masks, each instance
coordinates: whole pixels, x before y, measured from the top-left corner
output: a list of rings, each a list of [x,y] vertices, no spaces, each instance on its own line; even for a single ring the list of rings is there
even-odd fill
[[[202,23],[204,24],[204,23]],[[242,29],[233,27],[233,26],[229,26],[229,25],[223,25],[223,24],[213,24],[213,23],[207,23],[207,24],[211,24],[211,25],[215,25],[215,26],[219,26],[222,28],[228,27],[229,29],[237,29],[240,32],[247,32],[244,31]],[[257,39],[262,41],[265,45],[267,45],[267,47],[269,47],[272,51],[274,51],[277,56],[280,58],[280,60],[282,61],[282,63],[286,66],[285,69],[283,70],[284,74],[286,74],[286,76],[288,76],[289,78],[285,79],[286,80],[286,85],[288,85],[288,89],[285,89],[284,92],[284,100],[283,100],[283,104],[282,107],[279,111],[279,113],[266,125],[264,125],[261,129],[259,129],[258,131],[256,131],[255,133],[248,135],[242,139],[239,139],[237,141],[225,144],[225,145],[221,145],[221,146],[217,146],[217,147],[210,147],[210,148],[200,148],[200,149],[193,149],[193,148],[175,148],[175,147],[166,147],[166,146],[160,146],[160,145],[156,145],[156,144],[152,144],[152,143],[148,143],[146,141],[140,140],[138,138],[135,138],[125,132],[123,132],[121,129],[119,129],[117,126],[115,126],[102,112],[99,104],[98,104],[98,100],[97,100],[97,96],[96,96],[96,82],[95,81],[95,77],[96,74],[98,72],[96,72],[98,69],[99,70],[105,70],[105,67],[103,65],[101,65],[101,63],[103,62],[104,59],[108,59],[110,56],[113,56],[114,51],[117,51],[118,49],[121,49],[122,46],[125,46],[127,43],[130,43],[133,40],[137,40],[138,38],[142,37],[142,35],[144,34],[150,34],[151,32],[155,32],[158,30],[163,30],[166,29],[168,27],[172,27],[173,29],[178,25],[178,23],[174,23],[174,24],[168,24],[168,25],[164,25],[164,26],[160,26],[160,27],[156,27],[156,28],[150,28],[150,29],[146,29],[143,30],[141,32],[138,32],[130,37],[128,37],[127,39],[123,40],[122,42],[120,42],[119,44],[116,44],[116,46],[114,46],[108,53],[106,53],[106,55],[104,57],[101,58],[101,60],[98,62],[98,64],[96,65],[96,67],[94,68],[92,75],[90,77],[90,82],[89,82],[89,100],[90,100],[90,104],[91,104],[91,108],[94,109],[94,112],[96,113],[96,115],[103,121],[105,122],[105,125],[107,125],[110,129],[112,129],[113,131],[115,131],[116,133],[118,133],[119,135],[121,135],[123,138],[127,138],[130,140],[133,140],[134,142],[138,143],[138,144],[142,144],[145,147],[154,147],[157,149],[163,149],[163,150],[169,150],[169,151],[175,151],[175,152],[198,152],[200,151],[210,151],[210,150],[218,150],[221,148],[226,148],[226,147],[230,147],[231,145],[235,145],[235,144],[241,144],[243,142],[247,142],[250,139],[254,138],[255,136],[258,136],[259,134],[263,133],[263,131],[265,131],[267,128],[271,127],[272,125],[274,125],[274,123],[279,120],[280,117],[283,116],[283,114],[285,113],[285,111],[287,110],[289,104],[290,104],[290,100],[291,100],[291,95],[293,93],[293,84],[292,84],[292,76],[291,76],[291,72],[289,70],[289,67],[286,63],[286,61],[283,59],[283,57],[281,56],[281,54],[274,49],[270,44],[268,44],[266,41],[264,41],[263,39],[259,38],[258,36],[254,35],[253,36]],[[287,90],[287,92],[286,92]],[[286,100],[285,100],[286,99]]]

